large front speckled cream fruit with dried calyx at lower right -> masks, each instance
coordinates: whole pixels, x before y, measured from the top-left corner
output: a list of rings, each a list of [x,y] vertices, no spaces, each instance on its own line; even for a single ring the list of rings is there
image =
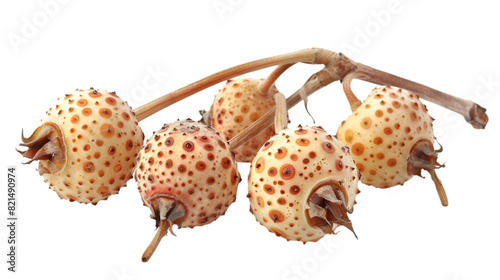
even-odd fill
[[[339,225],[353,231],[358,180],[348,149],[322,128],[285,129],[252,162],[250,211],[287,240],[317,241]]]

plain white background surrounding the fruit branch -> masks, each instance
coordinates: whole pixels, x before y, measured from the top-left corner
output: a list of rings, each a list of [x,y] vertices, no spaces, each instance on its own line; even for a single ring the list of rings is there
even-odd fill
[[[0,278],[499,279],[498,5],[270,2],[2,2],[1,172],[17,168],[19,221],[18,272],[10,273],[3,261],[8,236],[3,175]],[[177,237],[167,236],[143,264],[140,257],[155,228],[134,180],[97,206],[70,203],[48,189],[36,164],[22,165],[25,159],[15,152],[21,129],[31,133],[55,100],[75,88],[116,91],[136,108],[224,68],[309,47],[342,51],[488,109],[488,127],[475,130],[457,114],[425,102],[444,146],[439,159],[446,168],[438,175],[448,207],[440,205],[430,178],[387,190],[361,185],[351,215],[359,240],[341,228],[336,236],[303,245],[286,242],[255,221],[243,180],[225,216],[205,227],[177,230]],[[289,95],[319,69],[297,65],[277,86]],[[260,78],[270,71],[245,76]],[[153,85],[145,88],[143,80],[151,78]],[[209,108],[220,86],[141,122],[146,137],[178,118],[198,119],[198,110]],[[353,83],[361,99],[373,87]],[[331,134],[349,115],[338,82],[311,96],[309,109]],[[291,126],[313,124],[302,105],[290,115]],[[239,168],[246,178],[248,164]]]

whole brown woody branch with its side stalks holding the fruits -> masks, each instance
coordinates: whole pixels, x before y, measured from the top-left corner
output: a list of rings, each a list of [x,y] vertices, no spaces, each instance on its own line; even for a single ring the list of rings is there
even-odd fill
[[[351,101],[353,102],[351,108],[356,107],[358,101],[353,98],[354,94],[350,90],[349,84],[353,78],[359,78],[379,85],[389,85],[410,90],[423,99],[429,100],[461,114],[474,128],[484,128],[488,122],[486,109],[470,100],[464,100],[425,85],[371,68],[361,63],[356,63],[342,54],[320,48],[304,49],[228,68],[138,107],[134,110],[134,113],[136,114],[137,119],[141,121],[168,107],[169,105],[217,83],[245,73],[278,65],[277,69],[275,69],[266,82],[272,85],[281,73],[297,62],[324,64],[325,68],[313,75],[299,91],[295,92],[287,99],[288,108],[295,106],[298,102],[303,100],[304,95],[301,95],[301,93],[305,92],[307,95],[310,95],[319,88],[322,88],[333,81],[344,79],[346,79],[344,89],[348,89],[348,95],[350,96],[348,98],[352,99]],[[266,85],[263,87],[265,89]],[[251,135],[271,125],[275,110],[276,108],[271,109],[268,113],[262,116],[260,120],[255,122],[254,125],[251,125],[246,130],[242,131],[240,133],[241,135],[237,135],[235,137],[236,139],[232,140],[232,147],[235,148],[241,145],[246,140],[251,138]]]

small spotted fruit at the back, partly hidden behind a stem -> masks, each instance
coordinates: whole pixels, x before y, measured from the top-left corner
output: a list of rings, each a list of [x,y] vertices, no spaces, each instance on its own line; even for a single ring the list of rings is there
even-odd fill
[[[243,78],[229,80],[215,96],[211,108],[211,124],[226,140],[247,128],[276,104],[273,96],[278,90],[272,86],[268,93],[260,92],[258,85],[261,81],[262,79]],[[236,160],[252,161],[259,148],[273,133],[274,125],[271,125],[236,148]]]

